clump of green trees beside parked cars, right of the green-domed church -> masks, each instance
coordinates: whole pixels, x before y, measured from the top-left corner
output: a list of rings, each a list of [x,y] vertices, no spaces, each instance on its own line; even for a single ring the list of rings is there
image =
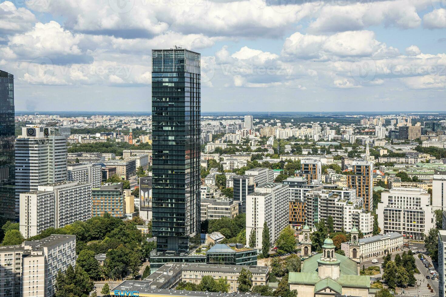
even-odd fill
[[[392,255],[387,253],[384,256],[382,264],[384,273],[383,280],[386,282],[388,288],[395,289],[398,287],[413,286],[416,283],[414,273],[416,271],[415,258],[412,251],[396,254],[395,260],[392,261]]]

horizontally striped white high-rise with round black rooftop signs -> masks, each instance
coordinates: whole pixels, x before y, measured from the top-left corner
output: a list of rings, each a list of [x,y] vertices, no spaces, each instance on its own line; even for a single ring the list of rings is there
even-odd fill
[[[51,134],[49,127],[23,127],[16,139],[16,201],[40,185],[66,180],[66,162],[66,136]]]

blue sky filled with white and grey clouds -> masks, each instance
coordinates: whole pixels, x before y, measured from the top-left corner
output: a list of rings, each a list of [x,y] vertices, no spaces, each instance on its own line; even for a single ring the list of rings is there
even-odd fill
[[[174,45],[202,111],[446,110],[446,0],[0,0],[16,110],[149,111]]]

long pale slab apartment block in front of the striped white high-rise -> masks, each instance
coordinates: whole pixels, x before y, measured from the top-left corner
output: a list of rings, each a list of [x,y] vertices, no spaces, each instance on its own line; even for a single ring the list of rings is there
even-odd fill
[[[63,181],[20,194],[20,232],[25,238],[91,218],[91,183]]]

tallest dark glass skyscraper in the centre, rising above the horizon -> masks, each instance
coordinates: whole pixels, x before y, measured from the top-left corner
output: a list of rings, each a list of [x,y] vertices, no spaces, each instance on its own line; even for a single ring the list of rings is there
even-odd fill
[[[157,251],[200,239],[200,54],[152,50],[153,236]]]

